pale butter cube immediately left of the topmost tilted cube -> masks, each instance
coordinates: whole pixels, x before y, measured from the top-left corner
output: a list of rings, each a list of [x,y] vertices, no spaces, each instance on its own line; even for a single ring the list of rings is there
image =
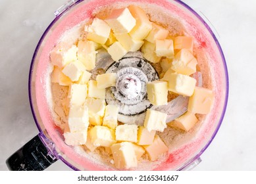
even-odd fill
[[[109,38],[111,28],[104,20],[94,18],[91,26],[86,31],[88,31],[87,39],[96,43],[105,44]]]

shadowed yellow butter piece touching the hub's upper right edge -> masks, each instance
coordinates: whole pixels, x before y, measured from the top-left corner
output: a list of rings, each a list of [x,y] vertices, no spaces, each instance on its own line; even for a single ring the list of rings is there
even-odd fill
[[[150,62],[157,63],[161,60],[161,57],[157,57],[155,54],[155,43],[145,41],[141,47],[141,52],[143,53],[143,57]]]

